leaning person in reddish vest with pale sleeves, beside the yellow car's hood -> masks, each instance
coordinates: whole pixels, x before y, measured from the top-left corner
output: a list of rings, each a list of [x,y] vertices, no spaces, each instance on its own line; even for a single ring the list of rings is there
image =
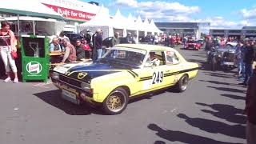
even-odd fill
[[[63,39],[63,45],[66,49],[62,62],[75,62],[77,60],[76,50],[67,38]]]

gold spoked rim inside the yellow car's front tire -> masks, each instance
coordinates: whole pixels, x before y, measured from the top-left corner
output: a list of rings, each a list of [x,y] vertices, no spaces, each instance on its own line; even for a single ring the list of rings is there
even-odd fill
[[[124,106],[124,102],[121,98],[121,96],[118,96],[118,93],[111,94],[106,99],[106,106],[109,110],[118,112],[119,110],[122,110],[122,107]]]

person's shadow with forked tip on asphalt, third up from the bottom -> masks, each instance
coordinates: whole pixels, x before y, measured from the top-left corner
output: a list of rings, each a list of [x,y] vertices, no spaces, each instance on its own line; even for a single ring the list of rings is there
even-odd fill
[[[217,112],[212,110],[202,110],[202,112],[212,114],[218,118],[225,119],[228,122],[233,122],[238,124],[246,123],[246,116],[244,115],[244,111],[242,109],[237,109],[234,106],[223,105],[223,104],[208,105],[208,104],[199,103],[199,102],[196,102],[196,104],[200,106],[207,106],[213,110],[216,110]]]

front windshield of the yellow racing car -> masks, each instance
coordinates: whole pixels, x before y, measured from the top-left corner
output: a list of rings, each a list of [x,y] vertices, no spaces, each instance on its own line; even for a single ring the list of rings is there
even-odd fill
[[[114,48],[110,50],[102,60],[117,62],[129,66],[141,66],[145,58],[146,50],[134,50],[130,48]]]

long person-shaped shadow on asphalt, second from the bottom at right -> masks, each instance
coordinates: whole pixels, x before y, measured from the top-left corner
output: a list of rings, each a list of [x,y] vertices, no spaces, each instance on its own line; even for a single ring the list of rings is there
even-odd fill
[[[190,126],[197,127],[209,133],[224,134],[234,138],[246,138],[246,126],[229,125],[205,118],[190,118],[186,114],[178,114],[177,116],[178,118],[184,119]]]

